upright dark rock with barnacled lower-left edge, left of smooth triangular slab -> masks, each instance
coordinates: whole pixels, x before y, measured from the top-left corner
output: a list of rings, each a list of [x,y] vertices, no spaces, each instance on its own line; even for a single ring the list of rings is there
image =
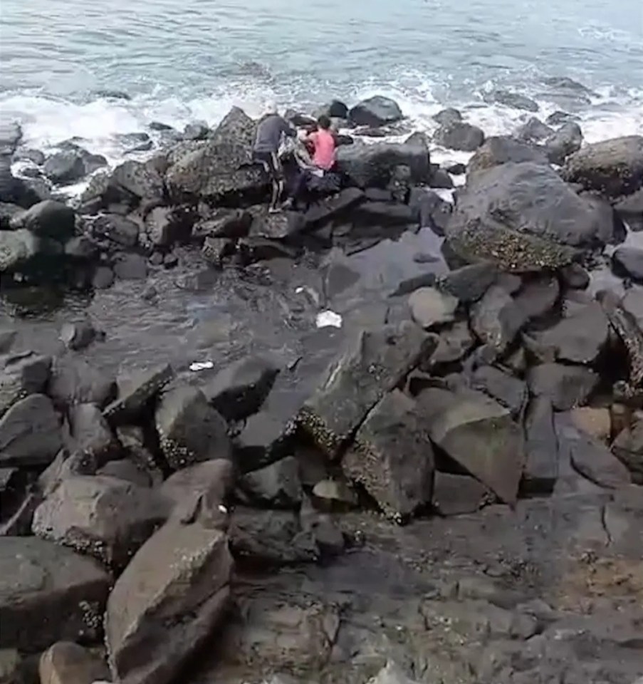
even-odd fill
[[[433,449],[422,418],[414,400],[393,390],[368,413],[342,460],[345,475],[399,522],[431,502]]]

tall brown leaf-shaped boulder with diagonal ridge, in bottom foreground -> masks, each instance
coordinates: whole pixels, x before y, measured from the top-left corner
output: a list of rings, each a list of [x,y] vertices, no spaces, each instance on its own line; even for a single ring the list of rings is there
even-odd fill
[[[117,580],[105,614],[113,678],[169,684],[207,638],[230,596],[226,534],[200,522],[168,523]]]

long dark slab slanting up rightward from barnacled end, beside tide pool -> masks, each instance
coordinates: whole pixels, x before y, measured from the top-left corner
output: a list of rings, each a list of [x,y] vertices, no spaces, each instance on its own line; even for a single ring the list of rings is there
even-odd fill
[[[436,338],[410,322],[360,331],[304,403],[298,424],[335,457],[373,406],[435,347]]]

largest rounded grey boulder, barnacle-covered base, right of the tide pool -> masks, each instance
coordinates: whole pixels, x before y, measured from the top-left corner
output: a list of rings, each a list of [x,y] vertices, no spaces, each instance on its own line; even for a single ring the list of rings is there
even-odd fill
[[[573,248],[601,247],[614,234],[597,203],[534,162],[508,162],[469,177],[447,229],[464,259],[488,258],[513,271],[563,266],[575,258]]]

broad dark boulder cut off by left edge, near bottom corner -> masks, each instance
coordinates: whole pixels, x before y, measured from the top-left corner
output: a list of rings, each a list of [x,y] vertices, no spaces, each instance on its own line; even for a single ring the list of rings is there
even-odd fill
[[[0,648],[98,641],[109,588],[93,559],[38,537],[0,537]]]

